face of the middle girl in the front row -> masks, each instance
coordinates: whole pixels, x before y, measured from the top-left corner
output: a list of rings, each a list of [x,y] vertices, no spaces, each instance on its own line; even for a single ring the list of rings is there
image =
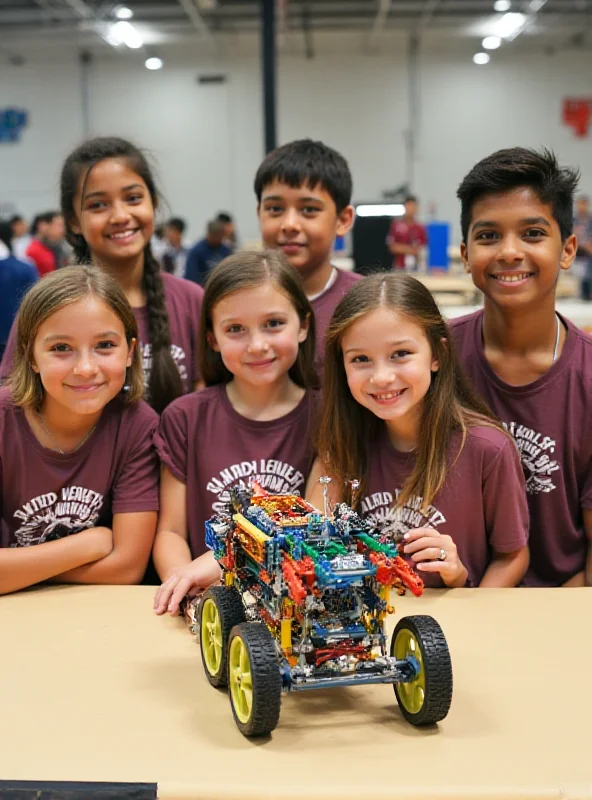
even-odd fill
[[[210,346],[236,379],[250,385],[281,380],[298,356],[308,324],[290,299],[267,282],[227,295],[212,311]]]

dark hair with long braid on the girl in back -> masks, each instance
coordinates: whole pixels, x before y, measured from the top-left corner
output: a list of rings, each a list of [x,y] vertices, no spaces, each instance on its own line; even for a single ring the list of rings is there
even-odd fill
[[[156,208],[158,205],[158,192],[150,166],[137,147],[125,139],[115,136],[99,136],[83,142],[70,153],[64,162],[60,177],[60,199],[62,214],[66,222],[66,239],[74,248],[74,258],[79,264],[90,264],[92,253],[82,234],[75,233],[73,229],[73,224],[78,221],[74,199],[81,180],[82,186],[84,186],[95,164],[107,158],[124,160],[146,184],[154,207]],[[183,383],[171,355],[171,331],[164,285],[160,267],[152,255],[150,244],[144,248],[142,289],[146,295],[148,334],[152,348],[152,368],[147,386],[147,399],[160,414],[172,400],[183,394]]]

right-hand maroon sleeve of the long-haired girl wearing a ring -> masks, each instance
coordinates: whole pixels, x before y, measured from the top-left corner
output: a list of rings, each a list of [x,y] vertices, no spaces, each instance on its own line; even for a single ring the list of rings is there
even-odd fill
[[[509,437],[485,465],[483,511],[489,544],[495,551],[511,553],[528,543],[526,483],[518,450]]]

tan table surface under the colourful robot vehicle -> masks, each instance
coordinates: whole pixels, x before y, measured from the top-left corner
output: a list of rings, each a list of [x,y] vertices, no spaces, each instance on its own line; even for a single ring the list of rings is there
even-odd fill
[[[0,780],[158,783],[161,800],[590,800],[592,591],[457,590],[398,598],[452,654],[438,727],[390,686],[285,696],[271,738],[236,729],[180,619],[149,587],[0,598]]]

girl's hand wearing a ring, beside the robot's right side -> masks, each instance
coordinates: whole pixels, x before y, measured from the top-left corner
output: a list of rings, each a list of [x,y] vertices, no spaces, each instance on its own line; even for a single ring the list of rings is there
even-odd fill
[[[468,572],[447,534],[435,528],[416,528],[403,537],[403,552],[420,572],[439,572],[446,586],[464,586]]]

